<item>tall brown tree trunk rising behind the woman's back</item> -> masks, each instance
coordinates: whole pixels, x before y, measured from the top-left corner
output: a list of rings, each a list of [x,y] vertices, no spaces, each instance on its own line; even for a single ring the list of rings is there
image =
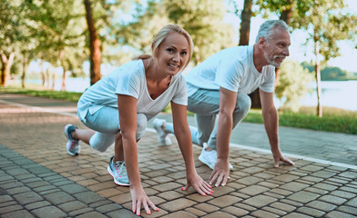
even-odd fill
[[[100,41],[97,36],[97,30],[94,26],[92,6],[90,0],[84,0],[87,12],[87,25],[89,30],[90,47],[90,84],[97,83],[100,80]]]

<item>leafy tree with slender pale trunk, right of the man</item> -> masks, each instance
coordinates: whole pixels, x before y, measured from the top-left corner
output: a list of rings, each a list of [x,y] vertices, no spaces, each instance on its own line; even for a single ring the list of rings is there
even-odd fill
[[[304,28],[309,32],[308,41],[312,41],[315,54],[315,73],[317,83],[317,115],[322,116],[321,105],[321,56],[326,63],[339,54],[337,42],[349,40],[357,33],[356,15],[343,12],[344,1],[319,0],[307,5],[309,10],[299,12],[292,20],[295,28]]]

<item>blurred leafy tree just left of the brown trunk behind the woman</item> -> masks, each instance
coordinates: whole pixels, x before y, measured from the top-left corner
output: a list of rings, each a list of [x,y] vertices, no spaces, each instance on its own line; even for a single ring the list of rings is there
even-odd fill
[[[63,69],[61,90],[66,90],[66,71],[71,59],[70,54],[84,47],[84,29],[81,11],[76,0],[29,1],[31,11],[31,32],[39,41],[36,55],[41,59]],[[77,50],[77,51],[76,51]]]

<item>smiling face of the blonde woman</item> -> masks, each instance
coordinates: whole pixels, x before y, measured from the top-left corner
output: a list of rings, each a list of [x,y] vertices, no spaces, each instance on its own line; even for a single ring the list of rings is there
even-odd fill
[[[172,33],[156,52],[158,69],[168,75],[178,74],[189,61],[189,42],[184,35]]]

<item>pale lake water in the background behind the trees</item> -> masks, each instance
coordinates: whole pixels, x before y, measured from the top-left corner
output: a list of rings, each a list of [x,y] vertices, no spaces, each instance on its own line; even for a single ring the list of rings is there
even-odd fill
[[[50,82],[52,83],[52,82]],[[41,84],[39,80],[26,80],[26,84]],[[61,89],[62,80],[56,80],[55,90]],[[67,78],[66,91],[84,92],[89,87],[89,78]],[[313,90],[301,99],[301,105],[316,106],[316,83],[308,84]],[[322,106],[337,107],[357,111],[357,81],[322,81]]]

